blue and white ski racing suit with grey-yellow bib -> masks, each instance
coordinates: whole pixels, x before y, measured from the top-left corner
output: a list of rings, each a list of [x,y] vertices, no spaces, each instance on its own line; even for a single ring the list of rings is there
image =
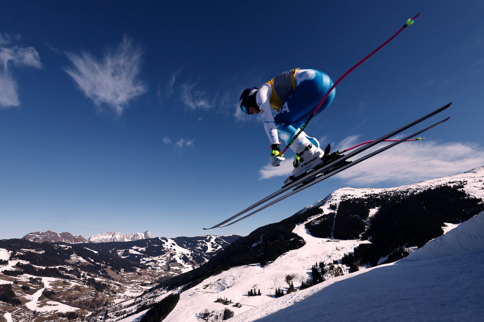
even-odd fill
[[[332,86],[326,73],[299,68],[280,73],[260,86],[256,101],[271,145],[280,143],[279,138],[287,144]],[[316,114],[333,101],[335,92],[331,91]],[[318,140],[302,132],[290,147],[297,153],[310,143],[319,147]]]

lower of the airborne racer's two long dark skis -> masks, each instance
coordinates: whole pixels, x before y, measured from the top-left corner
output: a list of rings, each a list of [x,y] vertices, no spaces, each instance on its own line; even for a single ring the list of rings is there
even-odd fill
[[[362,158],[360,158],[360,159],[358,159],[358,160],[356,160],[356,161],[352,161],[352,162],[350,162],[350,163],[348,163],[348,164],[346,164],[346,165],[342,166],[341,168],[338,168],[338,169],[335,169],[335,170],[331,171],[331,172],[330,172],[330,173],[328,173],[328,174],[325,174],[325,175],[319,176],[319,177],[318,177],[318,178],[316,178],[315,180],[313,180],[313,181],[311,181],[311,182],[308,182],[307,184],[305,184],[305,185],[303,185],[303,186],[301,186],[301,187],[295,188],[294,190],[292,190],[292,191],[290,191],[290,192],[286,193],[285,195],[283,195],[282,197],[277,198],[276,200],[272,201],[271,203],[269,203],[269,204],[267,204],[267,205],[263,205],[262,207],[257,208],[256,210],[254,210],[253,212],[251,212],[251,213],[249,213],[249,214],[247,214],[247,215],[243,216],[242,218],[239,218],[238,220],[235,220],[235,221],[232,221],[232,222],[230,222],[230,223],[227,223],[227,224],[225,224],[225,225],[223,225],[223,226],[218,226],[217,228],[222,228],[222,227],[227,227],[227,226],[230,226],[230,225],[232,225],[232,224],[234,224],[234,223],[236,223],[236,222],[238,222],[238,221],[241,221],[242,219],[245,219],[245,218],[247,218],[247,217],[249,217],[249,216],[252,216],[252,215],[256,214],[257,212],[259,212],[259,211],[261,211],[261,210],[263,210],[263,209],[265,209],[265,208],[267,208],[267,207],[269,207],[269,206],[271,206],[271,205],[274,205],[274,204],[276,204],[276,203],[278,203],[278,202],[280,202],[280,201],[282,201],[282,200],[286,199],[287,197],[292,196],[293,194],[295,194],[295,193],[297,193],[297,192],[299,192],[299,191],[302,191],[302,190],[304,190],[304,189],[306,189],[306,188],[309,188],[309,187],[311,187],[312,185],[314,185],[314,184],[316,184],[316,183],[318,183],[318,182],[320,182],[320,181],[322,181],[322,180],[324,180],[324,179],[329,178],[330,176],[333,176],[333,175],[335,175],[335,174],[337,174],[337,173],[339,173],[339,172],[341,172],[341,171],[343,171],[343,170],[345,170],[345,169],[347,169],[347,168],[349,168],[349,167],[351,167],[351,166],[353,166],[353,165],[356,165],[356,164],[360,163],[361,161],[364,161],[364,160],[366,160],[366,159],[368,159],[368,158],[371,158],[371,157],[373,157],[373,156],[377,155],[377,154],[378,154],[378,153],[380,153],[380,152],[383,152],[383,151],[385,151],[385,150],[387,150],[387,149],[389,149],[389,148],[391,148],[391,147],[393,147],[393,146],[396,146],[397,144],[400,144],[400,143],[402,143],[402,142],[405,142],[405,141],[407,141],[407,139],[409,139],[409,138],[411,138],[411,137],[413,137],[413,136],[419,135],[419,134],[421,134],[421,133],[423,133],[423,132],[425,132],[425,131],[427,131],[427,130],[430,130],[430,129],[432,129],[432,128],[434,128],[434,127],[438,126],[439,124],[442,124],[442,123],[446,122],[447,120],[449,120],[449,118],[450,118],[450,117],[447,117],[447,118],[445,118],[445,119],[441,120],[440,122],[435,123],[435,124],[433,124],[433,125],[429,126],[428,128],[425,128],[425,129],[423,129],[423,130],[421,130],[421,131],[419,131],[419,132],[417,132],[417,133],[414,133],[414,134],[412,134],[412,135],[409,135],[409,136],[408,136],[408,137],[406,137],[405,139],[402,139],[402,140],[396,140],[396,142],[394,142],[394,143],[392,143],[392,144],[390,144],[390,145],[388,145],[388,146],[384,146],[384,147],[382,147],[382,148],[380,148],[380,149],[378,149],[378,150],[376,150],[376,151],[374,151],[374,152],[372,152],[372,153],[369,153],[369,154],[365,155],[364,157],[362,157]]]

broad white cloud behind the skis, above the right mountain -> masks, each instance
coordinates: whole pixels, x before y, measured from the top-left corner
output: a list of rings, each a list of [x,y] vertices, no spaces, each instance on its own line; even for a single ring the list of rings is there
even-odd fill
[[[347,148],[358,143],[357,136],[337,146]],[[378,146],[378,147],[381,147]],[[340,149],[343,149],[340,148]],[[377,149],[374,147],[373,150]],[[369,153],[372,149],[369,149]],[[335,175],[350,185],[370,186],[381,183],[409,184],[439,176],[448,176],[484,166],[484,148],[470,143],[408,142],[365,160]],[[260,179],[289,176],[292,160],[279,167],[263,166]]]

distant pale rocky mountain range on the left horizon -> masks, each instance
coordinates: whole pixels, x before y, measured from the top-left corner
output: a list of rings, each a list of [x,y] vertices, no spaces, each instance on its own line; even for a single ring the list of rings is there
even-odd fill
[[[84,238],[81,235],[72,235],[71,233],[63,232],[56,233],[51,230],[46,230],[45,232],[33,232],[26,234],[22,239],[28,241],[33,241],[36,243],[67,243],[67,244],[82,244],[82,243],[110,243],[110,242],[127,242],[135,241],[140,239],[153,238],[150,231],[144,233],[136,234],[121,234],[120,232],[106,232],[104,234],[95,234],[89,237],[89,239]]]

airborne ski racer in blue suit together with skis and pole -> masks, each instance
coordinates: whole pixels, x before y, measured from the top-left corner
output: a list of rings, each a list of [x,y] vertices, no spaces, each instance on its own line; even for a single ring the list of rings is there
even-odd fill
[[[271,141],[271,163],[273,166],[278,166],[285,160],[283,157],[288,147],[296,152],[294,159],[294,169],[292,176],[289,176],[285,181],[285,185],[267,197],[259,200],[254,205],[251,205],[234,216],[224,220],[213,227],[204,229],[213,229],[217,227],[226,227],[232,225],[244,218],[252,216],[253,214],[265,209],[287,197],[298,193],[305,188],[308,188],[326,178],[333,176],[343,170],[352,167],[359,162],[362,162],[368,158],[371,158],[378,153],[381,153],[392,146],[400,144],[405,141],[419,141],[418,139],[411,139],[411,137],[419,135],[427,130],[430,130],[439,124],[446,122],[450,117],[447,117],[440,122],[437,122],[423,130],[413,133],[401,140],[388,140],[390,137],[401,133],[412,126],[422,122],[423,120],[432,117],[446,108],[451,103],[442,106],[441,108],[405,125],[404,127],[390,132],[377,140],[371,140],[363,142],[358,149],[349,152],[346,155],[341,155],[340,152],[333,152],[327,158],[325,153],[329,154],[328,148],[323,152],[319,147],[319,142],[313,137],[308,136],[303,132],[309,121],[324,110],[334,98],[334,88],[339,82],[346,77],[351,71],[362,64],[366,59],[370,58],[380,48],[388,44],[396,35],[398,35],[403,29],[413,24],[414,19],[408,19],[405,25],[403,25],[392,37],[390,37],[383,44],[379,45],[365,58],[360,60],[356,65],[351,67],[346,73],[341,75],[334,83],[328,75],[313,69],[293,69],[277,75],[269,82],[263,84],[259,88],[251,87],[242,92],[240,97],[240,107],[242,112],[246,114],[258,114],[261,113],[264,119],[264,127],[266,129],[269,140]],[[311,112],[311,109],[314,110]],[[277,112],[275,116],[272,112]],[[307,119],[306,119],[307,118]],[[280,134],[279,134],[279,133]],[[281,151],[279,149],[279,137],[283,141],[288,141],[287,146]],[[291,139],[292,137],[292,139]],[[362,152],[366,149],[377,145],[384,141],[394,141],[393,144],[379,148],[378,150],[369,154],[363,155]],[[329,146],[329,145],[328,145]],[[357,146],[346,149],[343,152],[351,150]],[[333,155],[337,156],[333,158]],[[339,156],[339,157],[338,157]],[[348,162],[349,158],[357,156],[358,159]],[[305,161],[302,159],[305,158]],[[324,162],[326,161],[326,163]],[[313,170],[309,173],[309,170]],[[278,197],[286,191],[293,189],[291,192],[287,192],[285,195]],[[274,199],[278,197],[277,199]],[[265,205],[264,205],[265,204]],[[252,212],[250,212],[252,210]],[[240,216],[243,217],[236,219]],[[233,220],[233,221],[232,221]]]

